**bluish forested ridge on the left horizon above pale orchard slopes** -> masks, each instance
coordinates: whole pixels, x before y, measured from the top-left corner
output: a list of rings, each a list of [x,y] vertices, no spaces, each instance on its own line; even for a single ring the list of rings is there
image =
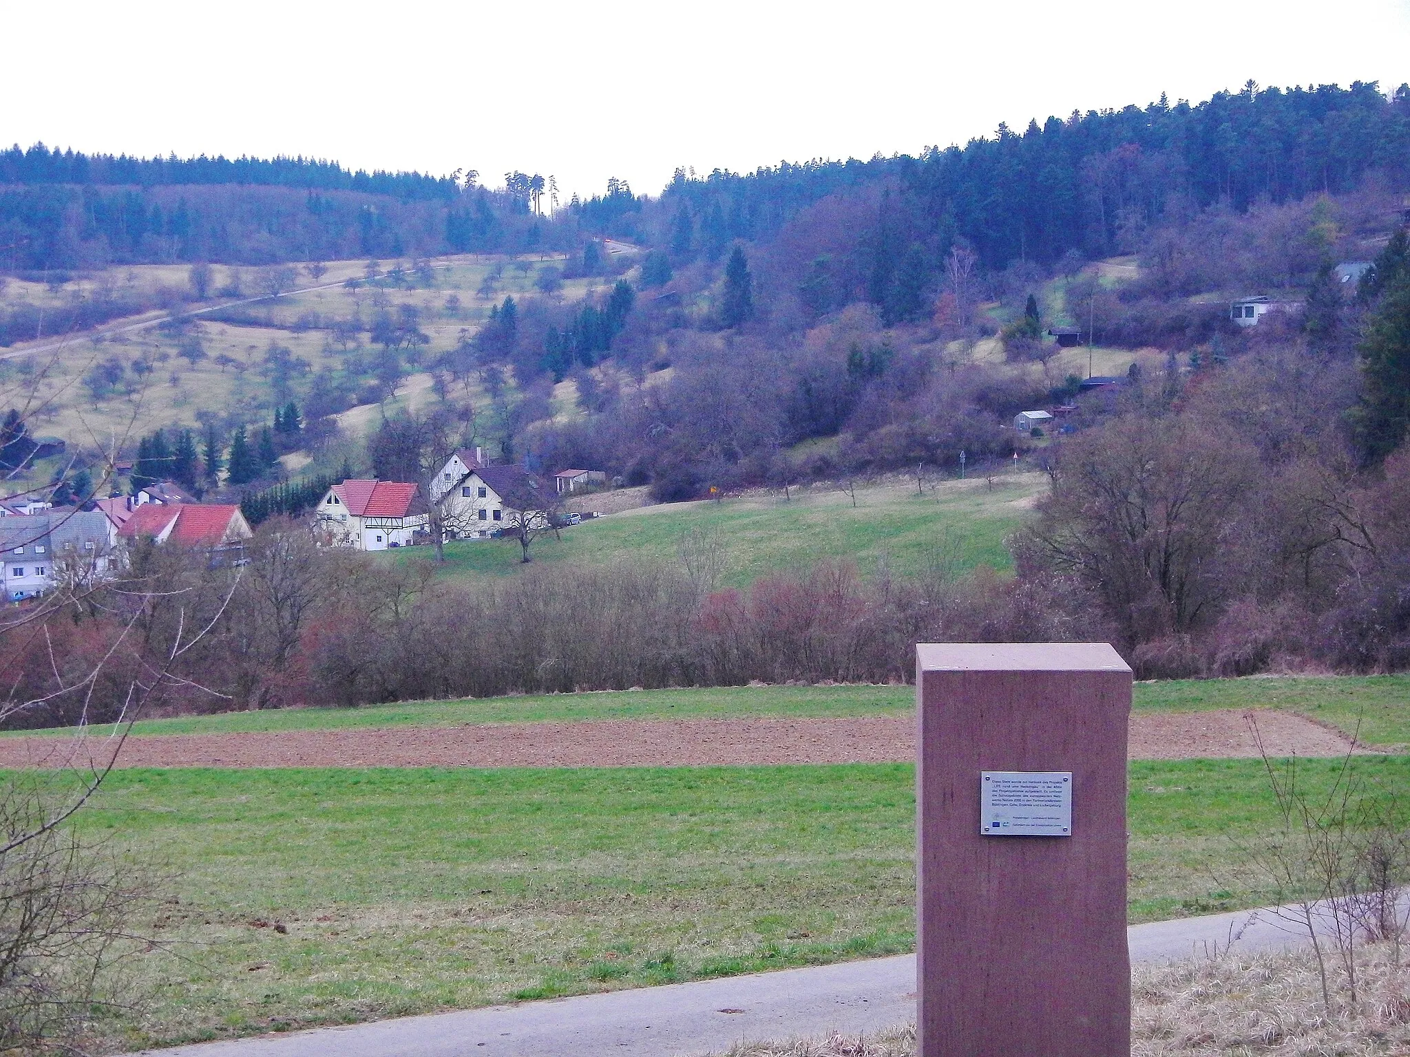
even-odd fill
[[[536,186],[502,190],[417,172],[350,172],[303,158],[114,158],[37,144],[0,154],[0,266],[266,265],[352,256],[523,252],[563,242]],[[534,185],[537,180],[537,185]]]

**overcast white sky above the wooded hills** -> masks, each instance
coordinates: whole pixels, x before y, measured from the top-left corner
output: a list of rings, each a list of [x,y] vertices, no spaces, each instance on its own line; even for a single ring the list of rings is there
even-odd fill
[[[0,142],[609,176],[963,144],[1000,121],[1410,80],[1410,0],[0,0]]]

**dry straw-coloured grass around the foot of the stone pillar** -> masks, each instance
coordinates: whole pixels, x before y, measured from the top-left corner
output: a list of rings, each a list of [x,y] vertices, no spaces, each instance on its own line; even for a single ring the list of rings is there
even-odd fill
[[[1323,1010],[1311,951],[1227,956],[1138,968],[1132,1057],[1372,1057],[1410,1053],[1410,963],[1392,944],[1361,951],[1361,1001]],[[915,1029],[859,1039],[752,1043],[723,1057],[915,1057]]]

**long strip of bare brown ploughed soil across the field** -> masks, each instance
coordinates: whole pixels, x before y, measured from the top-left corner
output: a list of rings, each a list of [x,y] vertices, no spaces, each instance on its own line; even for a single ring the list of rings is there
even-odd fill
[[[1341,734],[1287,712],[1258,713],[1270,755],[1334,757]],[[0,738],[0,767],[103,762],[104,738]],[[1242,712],[1131,719],[1132,760],[1258,755]],[[458,727],[354,727],[130,737],[118,767],[685,767],[850,764],[915,758],[909,716],[594,720]]]

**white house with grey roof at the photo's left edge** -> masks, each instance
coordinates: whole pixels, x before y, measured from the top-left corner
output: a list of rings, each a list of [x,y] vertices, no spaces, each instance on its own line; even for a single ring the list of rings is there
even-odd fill
[[[93,512],[0,517],[0,578],[10,602],[37,598],[63,578],[86,583],[109,574],[107,520]]]

